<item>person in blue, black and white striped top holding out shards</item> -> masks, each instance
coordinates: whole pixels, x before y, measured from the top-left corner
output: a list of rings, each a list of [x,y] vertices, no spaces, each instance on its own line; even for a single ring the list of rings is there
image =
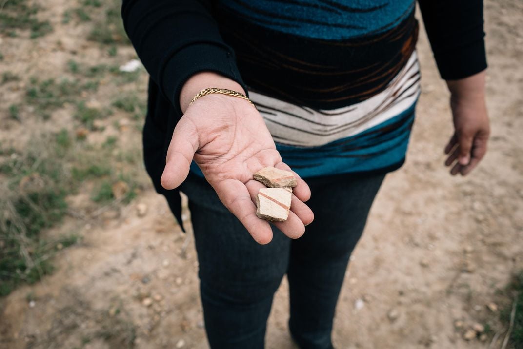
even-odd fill
[[[483,4],[418,4],[451,95],[446,165],[465,176],[489,134]],[[212,348],[264,347],[285,274],[293,341],[333,348],[350,253],[386,173],[405,160],[420,86],[415,6],[123,1],[150,74],[145,166],[180,224],[179,190],[189,197]],[[254,204],[253,173],[267,166],[299,178],[288,220],[272,225]]]

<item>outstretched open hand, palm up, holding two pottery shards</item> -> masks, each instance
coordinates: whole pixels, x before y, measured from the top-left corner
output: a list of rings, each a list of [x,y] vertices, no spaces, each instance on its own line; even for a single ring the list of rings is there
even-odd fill
[[[181,103],[182,108],[187,104]],[[290,168],[282,162],[259,112],[249,102],[231,96],[213,94],[196,100],[175,127],[161,179],[163,187],[178,187],[187,178],[193,159],[222,203],[254,240],[270,242],[272,230],[268,222],[256,216],[254,204],[258,189],[265,186],[255,181],[253,174],[267,166]],[[304,225],[314,218],[303,203],[310,194],[308,185],[298,179],[289,218],[274,223],[290,238],[302,236]]]

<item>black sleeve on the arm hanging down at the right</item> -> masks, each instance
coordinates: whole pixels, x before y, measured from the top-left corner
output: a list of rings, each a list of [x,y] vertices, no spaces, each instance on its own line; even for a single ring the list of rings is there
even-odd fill
[[[418,0],[439,73],[460,79],[487,67],[483,0]]]

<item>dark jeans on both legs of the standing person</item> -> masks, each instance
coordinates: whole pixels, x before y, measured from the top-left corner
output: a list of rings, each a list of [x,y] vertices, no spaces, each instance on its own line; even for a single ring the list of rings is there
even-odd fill
[[[207,182],[189,178],[181,190],[189,196],[211,348],[263,348],[272,298],[286,273],[293,340],[303,349],[333,348],[347,263],[384,176],[308,180],[314,222],[296,240],[273,227],[267,245],[253,240]]]

